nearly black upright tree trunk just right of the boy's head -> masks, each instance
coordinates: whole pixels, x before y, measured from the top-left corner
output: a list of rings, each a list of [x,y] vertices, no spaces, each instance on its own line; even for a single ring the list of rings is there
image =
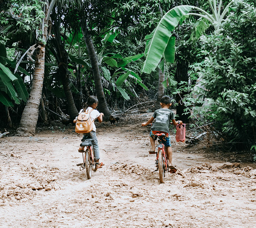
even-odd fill
[[[188,70],[187,61],[177,63],[175,80],[178,82],[178,86],[177,86],[178,88],[179,88],[179,83],[181,81],[188,81],[187,70]],[[185,95],[184,93],[179,93],[176,95],[176,102],[178,103],[178,106],[176,108],[176,115],[179,116],[179,120],[182,120],[183,122],[188,123],[190,114],[185,115],[183,111],[186,108],[186,106],[182,101],[182,98],[184,97],[184,95]]]

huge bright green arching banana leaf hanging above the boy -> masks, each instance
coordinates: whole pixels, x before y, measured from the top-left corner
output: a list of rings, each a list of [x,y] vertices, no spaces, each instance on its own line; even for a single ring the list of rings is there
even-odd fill
[[[179,21],[184,18],[183,16],[189,13],[191,8],[192,6],[188,5],[172,8],[162,17],[153,32],[145,37],[147,39],[145,48],[146,60],[143,63],[142,72],[149,74],[152,70],[156,69],[163,55],[168,54],[168,50],[165,53],[168,44],[168,47],[170,46],[174,49],[174,40],[171,38],[172,31],[178,25]],[[169,50],[169,53],[173,53],[173,50]],[[169,61],[174,60],[171,55],[168,56]]]

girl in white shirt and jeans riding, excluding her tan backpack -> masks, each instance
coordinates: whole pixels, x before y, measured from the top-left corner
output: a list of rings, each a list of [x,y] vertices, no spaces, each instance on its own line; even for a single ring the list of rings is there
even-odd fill
[[[102,168],[102,166],[104,165],[102,162],[99,163],[99,144],[98,144],[98,139],[96,136],[96,126],[94,124],[94,120],[97,118],[98,121],[101,123],[102,122],[102,116],[104,115],[103,113],[99,113],[98,110],[96,109],[96,107],[98,106],[98,99],[95,96],[89,96],[87,98],[87,102],[85,103],[83,109],[80,110],[80,113],[89,113],[89,122],[91,122],[92,124],[92,131],[88,132],[88,133],[83,133],[83,138],[82,141],[84,141],[83,139],[86,138],[92,138],[92,144],[93,144],[93,151],[94,151],[94,159],[96,162],[96,168]],[[79,120],[79,115],[78,117],[76,117],[76,119],[73,120],[74,123],[77,122],[77,118]],[[77,131],[76,131],[77,132]],[[80,148],[82,149],[82,148]]]

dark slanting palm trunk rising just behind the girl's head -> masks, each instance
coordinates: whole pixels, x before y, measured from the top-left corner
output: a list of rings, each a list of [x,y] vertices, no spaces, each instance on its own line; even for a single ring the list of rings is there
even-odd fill
[[[89,55],[89,59],[92,65],[93,69],[93,77],[94,77],[94,84],[95,84],[95,90],[97,94],[97,98],[99,101],[99,111],[104,113],[104,116],[106,119],[110,116],[110,111],[107,105],[107,101],[104,95],[101,76],[99,72],[99,63],[96,55],[96,51],[94,49],[91,36],[87,33],[87,28],[84,28],[85,25],[83,25],[83,36],[86,42],[86,47]]]

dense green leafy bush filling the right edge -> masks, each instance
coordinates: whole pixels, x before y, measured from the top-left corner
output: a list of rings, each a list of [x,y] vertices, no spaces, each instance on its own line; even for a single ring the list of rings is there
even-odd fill
[[[213,35],[201,38],[205,59],[191,70],[200,79],[199,97],[188,100],[195,115],[216,121],[226,140],[249,147],[256,130],[256,9],[238,0],[232,10]]]

